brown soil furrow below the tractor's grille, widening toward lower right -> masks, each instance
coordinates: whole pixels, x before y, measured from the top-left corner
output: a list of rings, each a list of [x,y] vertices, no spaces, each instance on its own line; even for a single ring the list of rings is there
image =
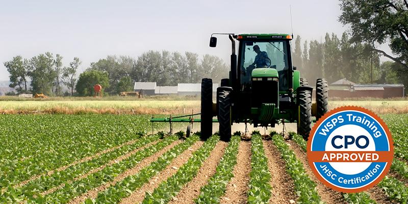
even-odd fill
[[[281,154],[273,145],[272,141],[263,141],[265,155],[268,158],[268,169],[271,173],[270,185],[272,187],[272,195],[269,203],[291,203],[290,200],[295,201],[297,196],[295,194],[294,182],[286,171],[285,161],[282,160]]]

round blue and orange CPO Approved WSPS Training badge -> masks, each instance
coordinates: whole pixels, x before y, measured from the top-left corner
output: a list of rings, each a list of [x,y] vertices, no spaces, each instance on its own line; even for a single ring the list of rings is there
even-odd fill
[[[309,164],[317,178],[345,193],[378,184],[390,170],[393,155],[387,125],[360,107],[329,111],[313,126],[308,140]]]

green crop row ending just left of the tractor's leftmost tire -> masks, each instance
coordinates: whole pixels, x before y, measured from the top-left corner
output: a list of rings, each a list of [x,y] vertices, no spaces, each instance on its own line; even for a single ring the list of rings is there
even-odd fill
[[[118,203],[122,198],[129,196],[133,191],[147,183],[151,177],[165,169],[177,156],[194,144],[199,137],[190,136],[179,145],[165,152],[158,160],[141,169],[138,173],[125,177],[120,182],[109,187],[104,192],[99,192],[96,199],[88,198],[86,203]]]

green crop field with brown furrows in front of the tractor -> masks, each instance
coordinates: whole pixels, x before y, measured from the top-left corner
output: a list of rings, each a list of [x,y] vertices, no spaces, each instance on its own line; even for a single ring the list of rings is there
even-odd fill
[[[322,185],[296,134],[201,141],[199,133],[149,134],[149,117],[0,115],[0,202],[408,202],[408,114],[381,115],[394,137],[395,160],[378,186],[359,194]]]

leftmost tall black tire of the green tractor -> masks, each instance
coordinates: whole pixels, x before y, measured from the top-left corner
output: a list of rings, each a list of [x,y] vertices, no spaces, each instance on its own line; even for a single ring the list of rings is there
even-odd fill
[[[213,134],[213,80],[201,80],[201,139]]]

